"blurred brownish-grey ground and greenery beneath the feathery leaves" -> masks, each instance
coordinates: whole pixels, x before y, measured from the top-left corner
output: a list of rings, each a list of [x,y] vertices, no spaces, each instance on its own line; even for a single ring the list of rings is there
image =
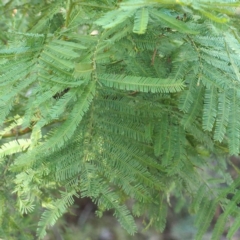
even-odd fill
[[[144,219],[139,218],[139,232],[131,236],[113,217],[112,211],[98,218],[94,213],[97,207],[91,199],[76,199],[70,213],[49,229],[44,240],[194,240],[197,229],[194,226],[194,216],[189,216],[187,203],[183,202],[182,206],[175,205],[174,198],[170,202],[172,206],[169,208],[167,226],[163,233],[157,232],[151,226],[145,228]],[[216,211],[213,224],[219,214],[220,208]],[[211,240],[211,233],[210,228],[203,240]],[[239,239],[240,231],[235,234],[233,240]],[[220,240],[227,238],[223,236]]]

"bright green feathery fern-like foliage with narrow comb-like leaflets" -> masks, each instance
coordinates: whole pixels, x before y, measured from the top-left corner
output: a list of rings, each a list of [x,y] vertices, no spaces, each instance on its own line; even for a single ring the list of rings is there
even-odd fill
[[[130,234],[134,216],[163,231],[175,196],[196,239],[218,206],[212,239],[234,217],[231,238],[240,178],[221,158],[240,152],[240,2],[119,2],[1,3],[0,222],[42,206],[41,239],[87,196]]]

